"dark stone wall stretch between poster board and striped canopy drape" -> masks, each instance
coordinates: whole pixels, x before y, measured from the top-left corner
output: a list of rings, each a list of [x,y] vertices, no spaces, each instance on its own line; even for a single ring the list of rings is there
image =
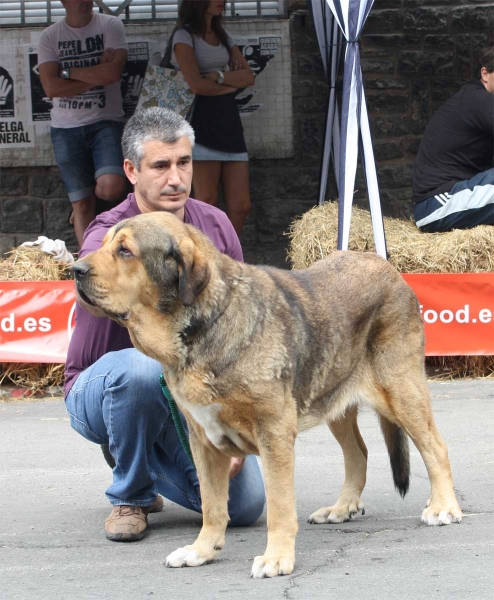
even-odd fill
[[[317,204],[328,85],[314,27],[303,0],[290,2],[294,156],[251,161],[254,209],[241,241],[246,259],[288,267],[286,232]],[[334,184],[330,189],[335,197]]]

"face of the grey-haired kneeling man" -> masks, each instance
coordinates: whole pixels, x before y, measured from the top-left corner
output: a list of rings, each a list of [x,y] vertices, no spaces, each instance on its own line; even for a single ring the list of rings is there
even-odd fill
[[[166,210],[183,220],[184,205],[192,185],[192,147],[187,137],[173,144],[150,140],[137,170],[125,159],[124,170],[134,185],[143,213]]]

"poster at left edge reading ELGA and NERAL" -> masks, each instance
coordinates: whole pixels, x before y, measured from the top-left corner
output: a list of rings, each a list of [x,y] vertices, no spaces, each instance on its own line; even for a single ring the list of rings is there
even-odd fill
[[[17,66],[12,48],[0,46],[0,150],[4,151],[34,146],[33,126],[19,96],[19,88],[25,89],[26,73]]]

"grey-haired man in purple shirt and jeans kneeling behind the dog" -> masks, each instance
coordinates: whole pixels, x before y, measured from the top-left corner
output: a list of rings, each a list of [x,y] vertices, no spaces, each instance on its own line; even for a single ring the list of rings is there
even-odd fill
[[[202,230],[221,252],[242,260],[226,214],[189,198],[193,144],[191,126],[176,113],[162,108],[136,113],[122,138],[124,170],[134,193],[91,223],[79,257],[98,249],[119,221],[164,210]],[[158,362],[132,347],[127,329],[77,307],[67,355],[66,406],[72,427],[88,440],[108,445],[115,462],[113,483],[106,490],[113,510],[105,521],[106,537],[113,541],[144,537],[148,513],[163,506],[159,494],[201,512],[197,473],[162,393],[161,371]],[[232,459],[230,524],[254,523],[264,502],[256,457]]]

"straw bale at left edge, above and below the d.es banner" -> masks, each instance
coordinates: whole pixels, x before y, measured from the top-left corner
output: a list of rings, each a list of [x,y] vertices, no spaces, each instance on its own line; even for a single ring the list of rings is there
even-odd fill
[[[33,246],[19,246],[0,259],[0,281],[60,281],[70,279],[69,266]],[[32,396],[64,381],[64,364],[0,363],[0,385],[25,388]]]

